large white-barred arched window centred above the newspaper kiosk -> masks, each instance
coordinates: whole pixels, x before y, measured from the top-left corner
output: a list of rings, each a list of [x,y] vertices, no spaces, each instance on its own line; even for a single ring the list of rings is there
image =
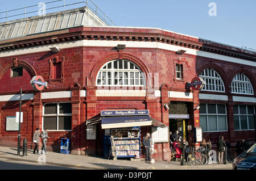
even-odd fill
[[[141,69],[129,60],[112,60],[97,75],[97,86],[145,86]]]

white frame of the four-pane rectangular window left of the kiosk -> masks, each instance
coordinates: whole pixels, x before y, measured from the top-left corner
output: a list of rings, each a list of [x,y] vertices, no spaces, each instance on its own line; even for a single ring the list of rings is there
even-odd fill
[[[69,102],[53,102],[53,103],[44,103],[43,104],[43,116],[42,116],[42,129],[44,128],[44,117],[57,117],[57,129],[53,130],[53,129],[48,129],[48,132],[64,132],[64,131],[72,131],[71,130],[59,130],[59,116],[72,116],[72,113],[59,113],[60,112],[60,104],[62,103],[69,103]],[[57,114],[44,114],[44,106],[46,106],[46,104],[57,104]],[[72,104],[71,104],[72,105]],[[71,117],[71,123],[72,123],[72,117]],[[71,125],[72,128],[72,125]]]

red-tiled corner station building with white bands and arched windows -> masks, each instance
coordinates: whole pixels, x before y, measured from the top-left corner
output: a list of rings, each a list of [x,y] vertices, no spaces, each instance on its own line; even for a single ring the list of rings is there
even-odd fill
[[[72,154],[102,155],[104,129],[96,124],[96,140],[87,140],[86,120],[104,110],[149,110],[189,141],[193,127],[202,127],[213,142],[221,135],[233,145],[242,138],[255,142],[256,52],[158,28],[108,27],[100,19],[85,24],[85,12],[0,23],[1,146],[16,146],[18,131],[7,120],[19,111],[20,88],[21,137],[28,146],[35,129],[47,127],[49,150],[59,150],[67,137]],[[32,89],[36,75],[47,89]],[[186,89],[194,77],[205,81],[200,91]],[[141,127],[141,137],[146,132],[150,126]],[[155,150],[153,158],[170,159],[168,142]]]

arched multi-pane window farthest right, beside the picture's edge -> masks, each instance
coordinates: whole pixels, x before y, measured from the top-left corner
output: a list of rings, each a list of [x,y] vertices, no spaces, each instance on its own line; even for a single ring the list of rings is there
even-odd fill
[[[232,93],[253,95],[253,86],[251,86],[251,82],[245,74],[236,74],[231,87]]]

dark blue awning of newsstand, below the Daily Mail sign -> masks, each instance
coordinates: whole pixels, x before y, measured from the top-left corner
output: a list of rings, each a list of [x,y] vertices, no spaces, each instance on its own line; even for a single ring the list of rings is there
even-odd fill
[[[86,125],[101,123],[102,129],[154,126],[165,127],[163,123],[150,116],[96,117],[86,121]]]

